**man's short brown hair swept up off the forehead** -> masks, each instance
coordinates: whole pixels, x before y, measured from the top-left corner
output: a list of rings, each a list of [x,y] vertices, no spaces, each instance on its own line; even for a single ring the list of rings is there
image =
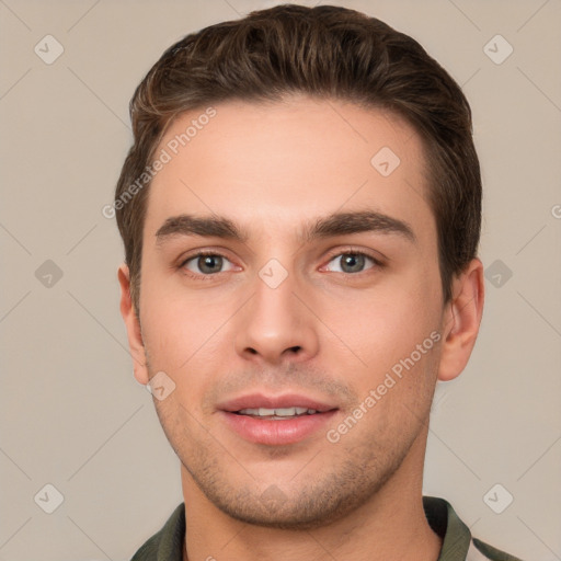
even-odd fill
[[[477,255],[481,227],[481,176],[463,93],[416,41],[375,18],[332,5],[283,4],[186,35],[135,91],[134,144],[115,209],[137,313],[149,183],[129,199],[124,195],[172,121],[224,101],[276,101],[291,93],[389,110],[421,135],[444,301],[449,300],[454,275]]]

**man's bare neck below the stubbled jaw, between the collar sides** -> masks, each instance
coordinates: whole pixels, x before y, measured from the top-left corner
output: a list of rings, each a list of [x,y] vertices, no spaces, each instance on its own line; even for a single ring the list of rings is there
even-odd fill
[[[409,466],[413,456],[409,455],[393,477],[360,507],[312,530],[265,528],[236,520],[210,503],[182,468],[188,528],[184,561],[309,561],[325,557],[436,561],[442,540],[426,520],[422,462],[416,470]]]

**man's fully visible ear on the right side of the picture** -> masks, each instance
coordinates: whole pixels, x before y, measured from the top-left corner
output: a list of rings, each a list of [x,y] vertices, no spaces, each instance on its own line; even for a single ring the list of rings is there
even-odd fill
[[[443,318],[443,346],[438,379],[453,380],[466,368],[476,344],[483,314],[483,264],[473,259],[463,272],[454,278],[451,300]]]

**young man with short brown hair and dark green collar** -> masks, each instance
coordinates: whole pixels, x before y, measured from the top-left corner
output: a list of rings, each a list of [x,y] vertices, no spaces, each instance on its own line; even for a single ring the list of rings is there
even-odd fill
[[[280,5],[131,101],[121,310],[181,460],[144,560],[514,560],[422,496],[435,383],[483,308],[469,105],[411,37]]]

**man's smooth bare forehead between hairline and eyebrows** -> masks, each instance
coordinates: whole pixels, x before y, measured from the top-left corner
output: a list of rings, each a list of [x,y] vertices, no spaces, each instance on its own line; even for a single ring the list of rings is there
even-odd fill
[[[165,163],[145,236],[182,213],[231,217],[255,234],[356,208],[425,230],[433,221],[422,141],[381,110],[305,96],[221,103],[176,117],[156,158]]]

